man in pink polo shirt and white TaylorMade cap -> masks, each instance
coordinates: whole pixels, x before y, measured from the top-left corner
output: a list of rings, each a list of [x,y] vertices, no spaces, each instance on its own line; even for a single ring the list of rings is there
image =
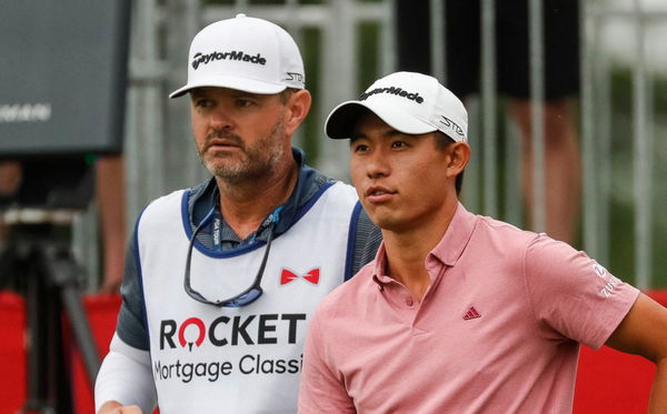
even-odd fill
[[[654,361],[650,410],[667,412],[667,310],[568,244],[466,211],[467,118],[410,72],[329,114],[385,241],[312,317],[299,413],[570,413],[579,344]]]

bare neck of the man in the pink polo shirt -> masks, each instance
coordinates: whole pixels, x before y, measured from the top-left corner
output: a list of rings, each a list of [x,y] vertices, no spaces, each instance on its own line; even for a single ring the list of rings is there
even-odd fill
[[[405,285],[418,301],[431,282],[425,265],[426,258],[445,236],[458,200],[448,204],[441,214],[421,225],[401,232],[382,230],[387,275]]]

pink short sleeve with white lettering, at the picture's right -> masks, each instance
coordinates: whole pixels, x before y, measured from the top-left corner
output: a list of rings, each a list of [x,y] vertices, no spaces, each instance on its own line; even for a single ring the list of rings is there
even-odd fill
[[[639,291],[585,252],[538,235],[526,250],[525,281],[544,335],[601,347]]]

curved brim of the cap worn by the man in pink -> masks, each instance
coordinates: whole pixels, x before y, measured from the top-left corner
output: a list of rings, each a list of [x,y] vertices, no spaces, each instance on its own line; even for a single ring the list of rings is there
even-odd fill
[[[378,101],[347,101],[336,107],[325,122],[325,133],[335,140],[352,137],[359,119],[368,111],[378,115],[397,131],[419,134],[436,131],[437,128],[396,108]]]

